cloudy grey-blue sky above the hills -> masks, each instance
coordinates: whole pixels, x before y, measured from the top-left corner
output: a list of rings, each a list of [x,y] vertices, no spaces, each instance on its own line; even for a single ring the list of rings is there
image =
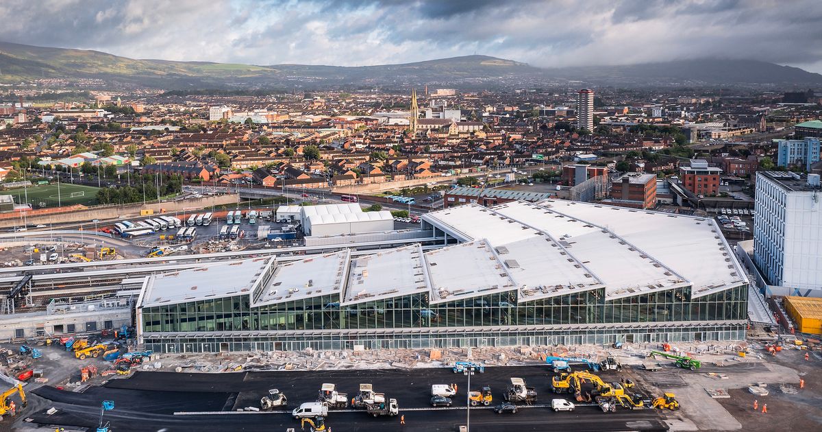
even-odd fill
[[[822,72],[820,0],[2,0],[0,40],[131,58],[541,67],[744,58]]]

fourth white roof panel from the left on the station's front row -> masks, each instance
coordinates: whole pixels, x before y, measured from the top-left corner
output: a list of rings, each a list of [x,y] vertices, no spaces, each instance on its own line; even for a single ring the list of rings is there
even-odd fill
[[[486,240],[425,253],[431,304],[516,290],[503,263]]]

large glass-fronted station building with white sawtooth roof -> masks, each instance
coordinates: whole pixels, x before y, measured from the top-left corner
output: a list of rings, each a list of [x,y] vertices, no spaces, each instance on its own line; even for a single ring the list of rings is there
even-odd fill
[[[138,337],[160,352],[745,337],[748,281],[710,219],[543,200],[422,225],[441,243],[148,276]]]

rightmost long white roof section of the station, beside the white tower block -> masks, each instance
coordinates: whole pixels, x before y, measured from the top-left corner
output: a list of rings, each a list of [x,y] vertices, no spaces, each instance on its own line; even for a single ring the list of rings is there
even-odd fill
[[[603,225],[665,262],[693,284],[692,297],[748,283],[731,247],[710,218],[546,200],[553,211]]]

